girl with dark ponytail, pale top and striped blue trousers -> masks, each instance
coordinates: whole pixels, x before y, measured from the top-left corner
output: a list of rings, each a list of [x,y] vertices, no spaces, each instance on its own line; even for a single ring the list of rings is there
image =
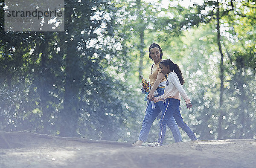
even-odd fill
[[[166,123],[170,117],[174,117],[177,125],[184,130],[191,140],[198,140],[189,126],[183,121],[180,114],[180,95],[185,99],[186,107],[192,108],[192,104],[185,93],[185,90],[181,86],[185,80],[182,76],[180,68],[177,64],[174,64],[172,60],[166,59],[160,62],[160,69],[163,75],[169,74],[166,80],[166,86],[163,95],[154,98],[154,102],[164,100],[164,110],[162,117],[159,122],[160,133],[158,142],[148,143],[149,146],[160,146],[163,145],[163,139],[166,133]]]

